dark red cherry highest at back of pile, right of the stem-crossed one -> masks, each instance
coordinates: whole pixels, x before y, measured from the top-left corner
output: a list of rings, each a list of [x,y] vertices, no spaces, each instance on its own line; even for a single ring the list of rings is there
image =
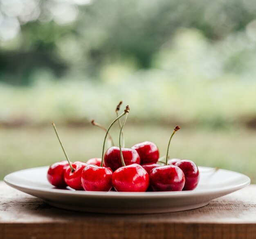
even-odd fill
[[[159,149],[157,145],[150,141],[144,141],[132,146],[132,149],[136,150],[140,157],[140,164],[156,163],[159,159]]]

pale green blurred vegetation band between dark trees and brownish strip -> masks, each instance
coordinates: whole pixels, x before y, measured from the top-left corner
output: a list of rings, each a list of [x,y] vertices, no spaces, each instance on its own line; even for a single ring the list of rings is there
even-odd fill
[[[116,59],[95,77],[70,72],[56,78],[38,69],[27,87],[0,83],[0,124],[107,123],[120,100],[130,105],[134,122],[212,127],[255,121],[256,44],[246,34],[210,42],[196,29],[177,29],[152,64],[137,69]]]

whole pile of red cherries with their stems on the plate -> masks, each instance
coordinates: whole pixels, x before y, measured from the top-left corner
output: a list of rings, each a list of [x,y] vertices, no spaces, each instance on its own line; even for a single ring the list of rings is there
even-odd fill
[[[108,129],[92,121],[93,125],[106,131],[101,159],[92,158],[86,163],[81,161],[71,163],[58,136],[56,126],[52,124],[67,161],[50,165],[47,172],[49,183],[57,188],[69,186],[75,190],[85,191],[146,192],[195,189],[200,177],[197,165],[190,160],[168,160],[171,139],[180,127],[175,127],[168,143],[167,154],[160,159],[158,147],[149,141],[125,148],[123,127],[130,107],[127,105],[124,112],[119,115],[121,103],[116,109],[117,118]],[[121,124],[120,118],[123,116],[124,121]],[[114,146],[109,133],[112,125],[117,121],[120,126],[119,147]],[[112,147],[105,152],[107,139]],[[162,161],[163,159],[165,161]]]

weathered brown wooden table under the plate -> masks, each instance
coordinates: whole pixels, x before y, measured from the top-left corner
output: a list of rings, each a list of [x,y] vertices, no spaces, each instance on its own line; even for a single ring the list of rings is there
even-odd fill
[[[256,239],[256,185],[195,210],[113,215],[52,208],[0,182],[0,239],[67,238]]]

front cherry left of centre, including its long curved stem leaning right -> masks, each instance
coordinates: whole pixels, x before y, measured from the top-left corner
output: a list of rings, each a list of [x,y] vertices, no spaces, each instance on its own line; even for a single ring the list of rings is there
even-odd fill
[[[84,190],[86,191],[109,191],[112,188],[112,170],[110,168],[103,167],[104,164],[104,147],[106,143],[106,138],[108,136],[108,132],[112,125],[122,116],[125,114],[128,114],[129,112],[129,106],[126,106],[126,109],[123,114],[118,116],[108,127],[108,130],[106,130],[106,135],[103,142],[103,150],[102,150],[102,157],[99,158],[93,158],[89,161],[99,161],[101,160],[101,163],[99,166],[97,165],[88,165],[83,169],[82,175],[81,175],[81,182]]]

